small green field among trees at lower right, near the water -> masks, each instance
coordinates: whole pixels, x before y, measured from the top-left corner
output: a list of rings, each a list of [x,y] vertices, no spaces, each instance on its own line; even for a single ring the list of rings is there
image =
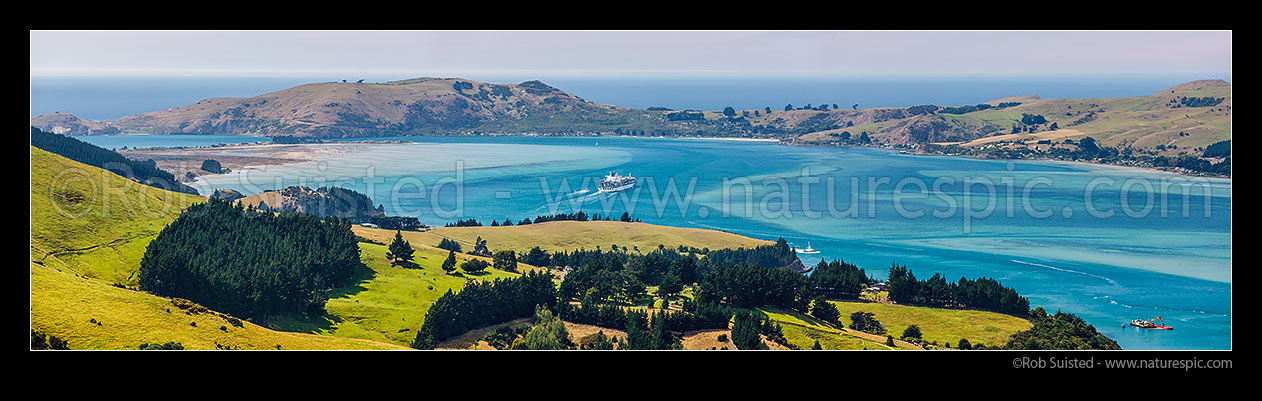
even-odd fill
[[[842,323],[851,324],[851,314],[872,313],[885,324],[891,335],[899,338],[909,325],[920,327],[923,338],[939,344],[959,344],[967,338],[973,344],[997,346],[1007,342],[1013,333],[1029,329],[1030,322],[1012,315],[982,310],[938,309],[878,303],[832,301],[842,313]]]

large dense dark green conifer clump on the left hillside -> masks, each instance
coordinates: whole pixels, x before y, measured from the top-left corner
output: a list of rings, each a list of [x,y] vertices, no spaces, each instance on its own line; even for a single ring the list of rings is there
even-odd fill
[[[220,199],[189,207],[149,243],[140,289],[239,317],[318,311],[360,262],[351,224]]]

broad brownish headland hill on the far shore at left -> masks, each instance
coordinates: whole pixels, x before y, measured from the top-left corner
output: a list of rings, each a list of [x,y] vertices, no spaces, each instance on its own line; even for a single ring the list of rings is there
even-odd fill
[[[323,82],[254,97],[87,121],[66,113],[32,117],[68,134],[218,134],[362,137],[481,132],[583,132],[651,125],[642,111],[588,102],[539,81],[492,84],[461,78],[382,83]]]

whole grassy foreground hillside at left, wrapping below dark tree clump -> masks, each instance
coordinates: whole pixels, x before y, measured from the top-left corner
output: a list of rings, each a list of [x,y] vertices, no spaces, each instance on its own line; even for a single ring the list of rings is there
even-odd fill
[[[180,209],[204,198],[145,187],[30,149],[30,324],[73,349],[385,349],[394,344],[236,327],[186,314],[170,299],[124,289],[145,246]],[[222,329],[221,329],[222,327]],[[218,344],[218,347],[217,347]]]

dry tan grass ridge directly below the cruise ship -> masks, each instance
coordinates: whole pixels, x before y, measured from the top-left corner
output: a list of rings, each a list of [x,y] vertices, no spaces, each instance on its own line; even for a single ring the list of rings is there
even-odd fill
[[[391,235],[394,235],[391,232]],[[408,237],[411,235],[410,237]],[[459,241],[462,246],[472,246],[477,237],[486,240],[492,250],[512,250],[519,253],[531,247],[544,251],[608,250],[611,246],[639,248],[649,252],[659,245],[675,248],[680,245],[697,248],[738,248],[771,245],[771,241],[755,240],[734,233],[702,230],[655,226],[649,223],[625,222],[545,222],[507,227],[442,227],[428,232],[405,232],[404,236],[422,240],[425,245],[437,245],[442,237]]]

